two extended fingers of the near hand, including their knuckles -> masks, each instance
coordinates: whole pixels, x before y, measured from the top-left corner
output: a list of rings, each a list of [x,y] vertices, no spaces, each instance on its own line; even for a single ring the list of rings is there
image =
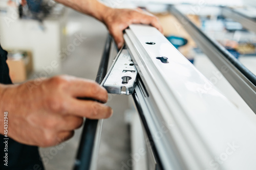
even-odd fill
[[[46,98],[45,106],[49,111],[94,119],[111,116],[112,109],[110,107],[86,100],[95,99],[104,103],[108,101],[108,92],[97,83],[70,76],[51,78],[49,82],[51,87],[55,86],[55,89],[58,89],[56,93],[54,93],[56,90],[49,93]],[[45,88],[47,89],[47,87]]]

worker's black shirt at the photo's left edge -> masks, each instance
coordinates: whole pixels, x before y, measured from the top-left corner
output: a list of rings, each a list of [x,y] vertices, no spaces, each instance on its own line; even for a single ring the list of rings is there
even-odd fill
[[[11,79],[9,77],[9,68],[6,63],[7,52],[3,50],[0,44],[0,83],[2,84],[11,84]],[[1,99],[0,99],[0,102]],[[6,110],[8,111],[8,110]],[[17,108],[18,111],[18,108]],[[4,114],[4,113],[0,113]],[[12,114],[9,113],[8,114]],[[9,120],[12,121],[12,120]],[[0,130],[3,130],[4,127],[0,127]],[[18,143],[15,140],[9,138],[8,140],[8,166],[4,165],[4,136],[0,135],[0,150],[1,150],[1,162],[0,169],[10,169],[10,170],[43,170],[44,166],[40,160],[38,147]]]

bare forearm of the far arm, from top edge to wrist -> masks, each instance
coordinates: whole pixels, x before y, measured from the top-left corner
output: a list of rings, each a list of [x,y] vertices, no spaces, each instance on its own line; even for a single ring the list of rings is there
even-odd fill
[[[110,7],[103,5],[97,0],[55,0],[65,6],[68,6],[74,10],[82,12],[84,14],[91,15],[96,19],[104,22],[104,15],[111,10]]]

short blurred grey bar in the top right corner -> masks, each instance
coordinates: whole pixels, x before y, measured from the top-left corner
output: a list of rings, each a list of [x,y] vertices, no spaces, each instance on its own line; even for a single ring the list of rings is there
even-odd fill
[[[222,7],[222,14],[227,18],[231,18],[234,21],[241,23],[244,28],[256,33],[256,20],[254,18],[246,16],[236,9],[228,7]]]

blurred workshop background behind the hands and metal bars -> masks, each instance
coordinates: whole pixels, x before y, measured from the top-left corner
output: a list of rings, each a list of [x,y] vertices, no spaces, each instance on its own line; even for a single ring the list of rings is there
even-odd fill
[[[231,7],[256,20],[256,2],[249,0],[104,0],[113,8],[137,8],[159,17],[164,35],[173,45],[242,113],[255,120],[252,110],[232,88],[218,69],[168,12],[167,4],[178,9],[209,37],[218,41],[234,57],[256,74],[256,34],[241,23],[223,15],[223,6]],[[0,41],[9,52],[7,63],[14,83],[68,74],[95,80],[108,30],[96,19],[68,9],[54,1],[0,1]],[[113,50],[113,57],[116,52]],[[98,169],[132,169],[123,166],[131,159],[131,115],[134,108],[129,96],[110,95],[108,105],[113,117],[104,120]],[[46,169],[72,169],[81,129],[62,143],[62,149],[41,148]],[[54,153],[54,154],[53,154]]]

